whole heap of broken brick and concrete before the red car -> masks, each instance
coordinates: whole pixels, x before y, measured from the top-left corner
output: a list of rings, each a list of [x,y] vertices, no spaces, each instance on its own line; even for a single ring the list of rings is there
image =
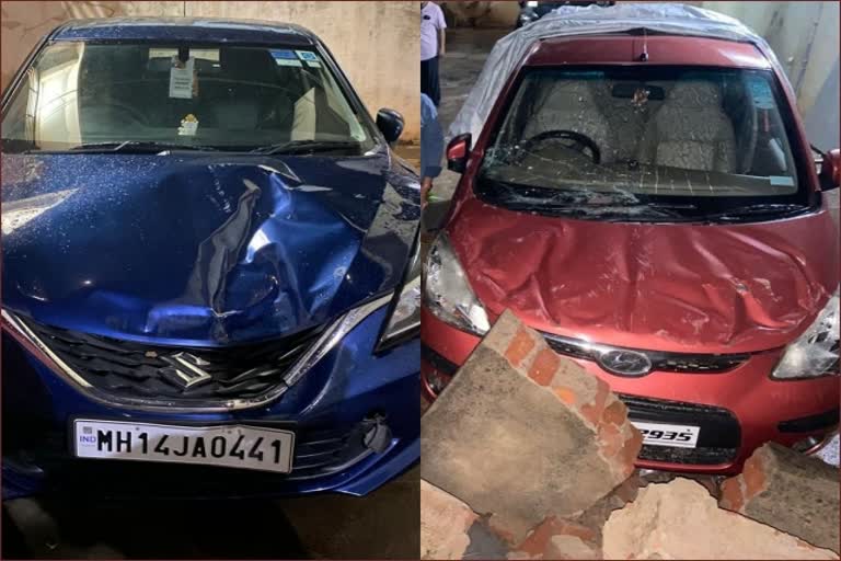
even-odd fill
[[[506,311],[422,417],[422,558],[483,528],[507,559],[838,559],[837,468],[770,444],[719,485],[634,470],[641,446],[609,387]]]

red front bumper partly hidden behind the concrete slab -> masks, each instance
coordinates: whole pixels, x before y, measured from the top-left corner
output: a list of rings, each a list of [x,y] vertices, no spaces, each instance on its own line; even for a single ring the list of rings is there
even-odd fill
[[[420,337],[420,386],[428,399],[435,399],[435,380],[454,374],[481,340],[426,308]],[[781,350],[756,353],[723,374],[654,371],[640,378],[614,376],[594,362],[573,359],[610,385],[629,407],[631,419],[701,427],[696,448],[644,446],[637,467],[731,474],[740,472],[765,442],[792,446],[808,437],[822,440],[838,428],[839,378],[772,380],[769,373],[780,354]]]

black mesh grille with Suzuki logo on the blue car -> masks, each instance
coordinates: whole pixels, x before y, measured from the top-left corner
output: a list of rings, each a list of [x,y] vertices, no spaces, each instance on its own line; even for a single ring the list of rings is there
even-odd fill
[[[277,387],[323,331],[320,325],[272,341],[200,348],[148,345],[23,321],[97,390],[119,398],[177,400],[185,405],[254,398]]]

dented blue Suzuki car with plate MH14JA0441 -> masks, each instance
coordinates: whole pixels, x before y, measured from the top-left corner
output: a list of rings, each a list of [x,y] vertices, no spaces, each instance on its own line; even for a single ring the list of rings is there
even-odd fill
[[[419,457],[419,183],[295,25],[81,20],[2,98],[2,490],[361,495]]]

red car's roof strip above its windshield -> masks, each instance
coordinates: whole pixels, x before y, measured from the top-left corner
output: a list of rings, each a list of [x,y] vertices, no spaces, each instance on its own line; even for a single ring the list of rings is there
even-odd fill
[[[647,59],[642,60],[646,53]],[[617,33],[545,38],[535,43],[525,66],[670,65],[770,69],[752,43],[688,35]]]

